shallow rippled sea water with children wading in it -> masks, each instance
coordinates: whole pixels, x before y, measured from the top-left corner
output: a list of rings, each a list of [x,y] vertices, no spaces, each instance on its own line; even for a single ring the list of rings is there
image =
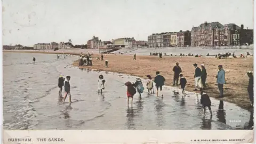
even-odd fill
[[[181,93],[178,87],[164,86],[163,99],[146,91],[141,99],[136,94],[128,107],[124,83],[134,82],[134,77],[72,67],[77,56],[56,58],[55,54],[3,54],[5,130],[227,130],[253,125],[252,113],[215,99],[211,99],[213,117],[208,110],[203,117],[200,96],[175,95],[174,90]],[[71,104],[68,99],[59,102],[60,73],[71,76]],[[102,94],[97,90],[100,74],[106,79]]]

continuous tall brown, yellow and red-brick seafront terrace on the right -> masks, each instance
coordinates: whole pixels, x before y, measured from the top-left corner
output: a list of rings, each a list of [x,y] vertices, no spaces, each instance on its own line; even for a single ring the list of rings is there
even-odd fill
[[[191,31],[169,32],[148,36],[148,47],[228,46],[253,44],[253,29],[229,23],[204,22]]]

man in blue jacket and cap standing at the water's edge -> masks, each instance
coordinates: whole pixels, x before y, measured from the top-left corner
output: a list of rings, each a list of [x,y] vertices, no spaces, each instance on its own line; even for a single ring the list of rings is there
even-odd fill
[[[217,83],[218,83],[218,89],[220,91],[219,98],[223,98],[223,94],[224,94],[223,85],[226,84],[225,70],[223,69],[222,65],[219,65],[218,69],[219,69],[219,71],[218,71],[216,78],[217,78]]]

